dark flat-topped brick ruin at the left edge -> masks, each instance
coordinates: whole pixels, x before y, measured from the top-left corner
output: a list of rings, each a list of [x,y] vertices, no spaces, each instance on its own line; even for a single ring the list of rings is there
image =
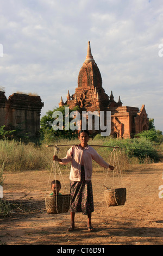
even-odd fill
[[[7,99],[0,91],[0,126],[5,125],[7,130],[18,128],[29,137],[37,137],[42,107],[40,96],[14,93]]]

